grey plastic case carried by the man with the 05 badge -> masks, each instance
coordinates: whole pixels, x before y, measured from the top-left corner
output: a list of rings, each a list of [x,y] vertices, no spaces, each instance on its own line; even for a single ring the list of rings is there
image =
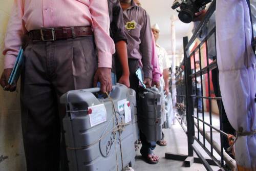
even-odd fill
[[[161,94],[157,88],[142,90],[138,101],[138,124],[148,141],[162,139]]]

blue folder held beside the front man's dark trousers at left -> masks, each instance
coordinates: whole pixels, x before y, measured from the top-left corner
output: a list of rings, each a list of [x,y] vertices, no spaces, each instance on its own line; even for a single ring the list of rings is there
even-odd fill
[[[12,85],[14,82],[15,83],[17,82],[17,80],[20,76],[20,73],[22,71],[23,62],[24,62],[23,49],[20,47],[17,59],[15,61],[14,68],[13,68],[11,76],[8,80],[8,84]]]

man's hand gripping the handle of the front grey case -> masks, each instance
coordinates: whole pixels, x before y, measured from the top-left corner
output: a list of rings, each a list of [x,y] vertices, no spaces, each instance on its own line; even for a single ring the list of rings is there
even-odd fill
[[[100,91],[102,93],[111,92],[111,68],[98,68],[93,79],[93,86],[97,87],[97,82],[100,82]]]

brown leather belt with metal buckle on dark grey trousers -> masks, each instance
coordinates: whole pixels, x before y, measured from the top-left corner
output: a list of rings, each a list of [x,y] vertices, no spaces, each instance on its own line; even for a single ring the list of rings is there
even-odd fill
[[[33,40],[55,41],[59,39],[76,38],[83,36],[92,36],[91,26],[64,27],[64,28],[42,28],[40,30],[31,30],[29,36]]]

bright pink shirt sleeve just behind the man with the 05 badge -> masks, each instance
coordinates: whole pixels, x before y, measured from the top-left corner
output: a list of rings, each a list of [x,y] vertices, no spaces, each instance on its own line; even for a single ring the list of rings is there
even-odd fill
[[[152,71],[152,76],[153,76],[153,81],[154,82],[160,82],[160,77],[162,76],[162,73],[159,69],[159,61],[156,53],[156,43],[155,43],[155,38],[152,36],[152,66],[153,66],[153,71]]]

